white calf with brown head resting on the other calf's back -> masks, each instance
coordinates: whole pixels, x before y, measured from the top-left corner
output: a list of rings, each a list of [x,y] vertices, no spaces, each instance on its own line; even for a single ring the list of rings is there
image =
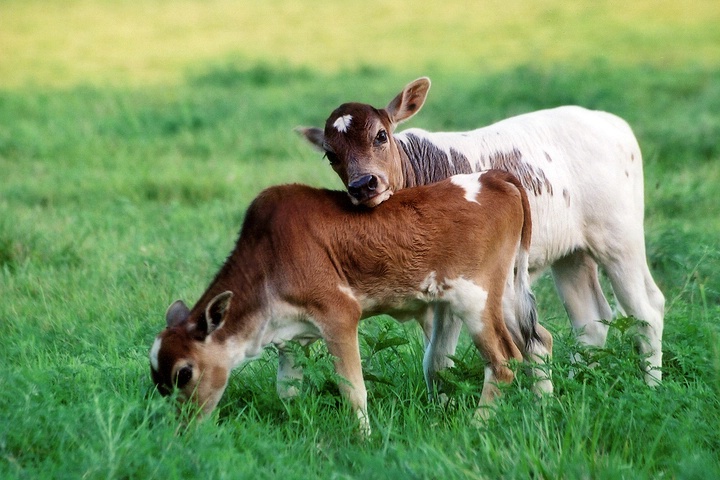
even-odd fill
[[[646,322],[638,342],[648,357],[645,379],[659,382],[665,298],[645,257],[642,156],[628,124],[568,106],[467,132],[393,133],[420,110],[429,88],[420,78],[384,109],[346,103],[324,129],[298,130],[325,152],[354,204],[374,207],[403,188],[458,173],[497,168],[515,174],[533,217],[531,278],[550,267],[579,340],[602,346],[608,326],[601,320],[612,319],[612,310],[599,264],[621,310]]]

